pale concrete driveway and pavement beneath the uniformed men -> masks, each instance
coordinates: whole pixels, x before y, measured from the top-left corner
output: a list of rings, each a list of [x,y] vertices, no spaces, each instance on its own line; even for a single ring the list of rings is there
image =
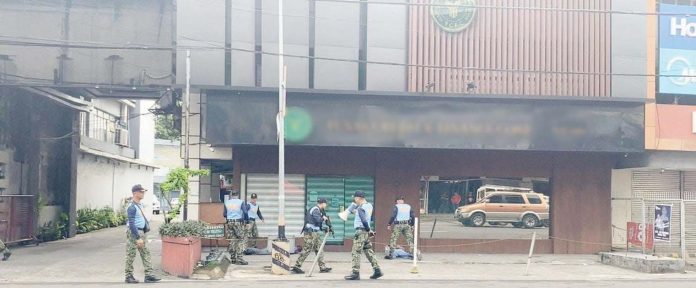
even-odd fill
[[[157,231],[153,229],[153,231]],[[122,283],[124,279],[125,227],[105,229],[75,238],[43,243],[40,246],[15,247],[10,261],[0,262],[0,285],[3,283]],[[153,233],[148,247],[157,273],[161,260],[161,241]],[[202,255],[205,257],[207,253]],[[424,254],[419,273],[411,274],[412,262],[385,260],[377,254],[385,273],[383,279],[396,280],[650,280],[693,279],[696,273],[644,274],[600,264],[596,255],[539,255],[533,258],[530,275],[525,276],[526,255]],[[304,265],[309,271],[314,256]],[[293,255],[295,260],[297,255]],[[350,272],[349,253],[327,253],[332,273],[316,273],[312,279],[343,280]],[[249,266],[230,266],[225,280],[305,281],[304,275],[271,275],[271,256],[247,256]],[[140,260],[135,262],[136,278],[142,279]],[[370,265],[363,257],[361,276],[367,279]],[[163,275],[165,282],[194,281]],[[204,280],[200,280],[204,281]],[[215,281],[217,282],[217,281]]]

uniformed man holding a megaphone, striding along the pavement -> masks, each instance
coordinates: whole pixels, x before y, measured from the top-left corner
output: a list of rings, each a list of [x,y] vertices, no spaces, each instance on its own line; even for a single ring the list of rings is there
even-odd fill
[[[370,229],[370,220],[372,219],[373,206],[365,199],[365,193],[362,191],[356,191],[353,194],[353,201],[355,206],[351,206],[351,213],[355,213],[355,221],[353,227],[355,228],[355,236],[353,236],[353,249],[351,251],[351,257],[353,259],[353,271],[350,275],[346,276],[346,280],[360,280],[360,253],[365,253],[365,257],[372,264],[372,269],[374,273],[370,276],[370,279],[377,279],[382,277],[382,270],[379,268],[377,263],[377,258],[375,257],[375,250],[372,247],[370,238],[375,236],[375,232]]]

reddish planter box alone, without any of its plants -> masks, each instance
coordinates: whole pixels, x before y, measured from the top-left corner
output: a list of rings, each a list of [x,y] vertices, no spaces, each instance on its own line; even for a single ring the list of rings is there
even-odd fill
[[[201,239],[162,237],[162,270],[179,277],[191,277],[201,260]]]

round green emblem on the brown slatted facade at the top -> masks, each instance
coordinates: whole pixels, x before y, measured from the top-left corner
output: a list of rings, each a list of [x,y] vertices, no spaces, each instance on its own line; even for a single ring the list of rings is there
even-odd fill
[[[450,33],[469,27],[476,15],[475,0],[431,0],[430,4],[433,4],[430,6],[430,16],[435,24]]]

